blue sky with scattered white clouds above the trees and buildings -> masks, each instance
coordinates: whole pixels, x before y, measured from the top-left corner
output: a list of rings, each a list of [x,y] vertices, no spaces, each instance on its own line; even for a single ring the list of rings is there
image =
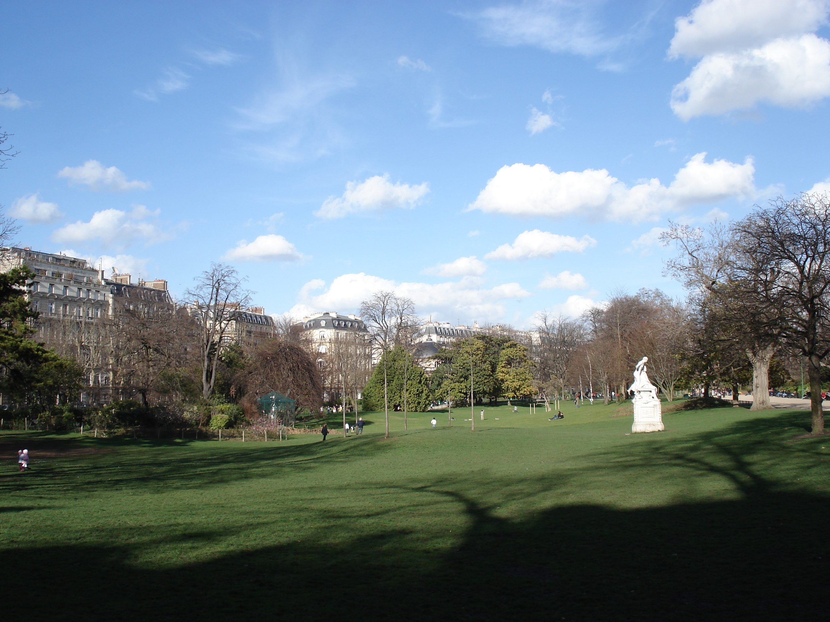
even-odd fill
[[[19,243],[268,313],[578,314],[669,218],[826,190],[824,0],[7,2]]]

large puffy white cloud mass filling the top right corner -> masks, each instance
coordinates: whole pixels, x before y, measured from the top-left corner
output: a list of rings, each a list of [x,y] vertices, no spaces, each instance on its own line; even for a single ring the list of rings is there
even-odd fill
[[[683,120],[762,101],[801,107],[830,95],[826,0],[706,0],[676,20],[669,56],[701,57],[671,93]]]

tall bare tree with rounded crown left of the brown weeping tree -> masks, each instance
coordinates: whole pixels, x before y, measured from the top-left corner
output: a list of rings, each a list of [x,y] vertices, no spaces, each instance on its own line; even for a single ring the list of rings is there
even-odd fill
[[[202,395],[212,396],[216,386],[216,370],[223,338],[227,341],[227,328],[233,321],[232,312],[244,309],[251,302],[251,291],[245,289],[244,278],[237,270],[226,264],[211,264],[196,279],[196,285],[188,289],[193,299],[191,313],[201,327],[199,349],[202,365]]]

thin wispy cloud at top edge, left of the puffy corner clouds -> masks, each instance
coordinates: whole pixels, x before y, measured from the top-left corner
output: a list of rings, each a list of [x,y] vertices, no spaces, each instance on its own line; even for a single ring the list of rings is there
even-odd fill
[[[590,2],[522,2],[486,8],[472,17],[485,36],[505,46],[594,56],[613,50],[619,40],[599,32],[591,11]]]

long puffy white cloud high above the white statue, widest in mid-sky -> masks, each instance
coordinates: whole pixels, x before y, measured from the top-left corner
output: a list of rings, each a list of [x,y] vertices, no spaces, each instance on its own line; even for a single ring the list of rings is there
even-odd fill
[[[504,166],[468,210],[510,216],[591,216],[612,221],[657,220],[665,211],[729,197],[754,196],[754,166],[727,160],[706,163],[697,153],[669,187],[657,178],[627,187],[605,169],[554,173],[544,164]]]

